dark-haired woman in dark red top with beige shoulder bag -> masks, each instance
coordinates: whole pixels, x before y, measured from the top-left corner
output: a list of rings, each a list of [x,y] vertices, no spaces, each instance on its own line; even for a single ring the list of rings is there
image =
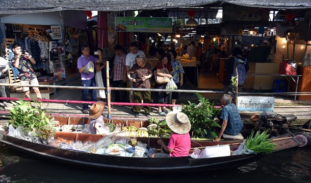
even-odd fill
[[[157,76],[165,76],[168,78],[172,78],[171,73],[173,71],[173,68],[171,65],[170,54],[165,53],[161,56],[161,58],[162,58],[162,61],[158,62],[158,65],[157,65]],[[162,73],[163,68],[167,68],[169,74]],[[165,89],[166,83],[165,84],[156,84],[154,87],[157,89]],[[158,97],[158,103],[159,104],[167,104],[168,103],[168,94],[165,91],[159,91],[157,93],[157,97]],[[165,107],[163,107],[163,110],[161,109],[161,107],[158,107],[158,115],[165,116],[166,113],[168,113],[168,111],[166,110]]]

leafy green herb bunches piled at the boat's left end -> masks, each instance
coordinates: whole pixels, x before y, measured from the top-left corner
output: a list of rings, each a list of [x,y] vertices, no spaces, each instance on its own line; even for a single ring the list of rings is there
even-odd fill
[[[28,101],[19,100],[13,103],[10,112],[10,121],[6,124],[14,128],[21,127],[23,132],[32,132],[42,140],[46,140],[54,134],[52,130],[55,123],[53,117],[46,115],[46,111],[41,109],[40,102],[34,101],[32,105]]]

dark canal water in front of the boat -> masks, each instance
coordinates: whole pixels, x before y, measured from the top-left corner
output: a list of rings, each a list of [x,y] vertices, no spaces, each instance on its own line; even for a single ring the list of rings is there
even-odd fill
[[[70,167],[0,145],[0,182],[311,182],[310,157],[311,146],[297,147],[266,155],[237,169],[162,176],[157,172],[142,175]]]

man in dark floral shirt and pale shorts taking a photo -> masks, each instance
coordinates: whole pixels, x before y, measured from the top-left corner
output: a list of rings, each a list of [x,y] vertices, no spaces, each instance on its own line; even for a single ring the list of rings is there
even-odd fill
[[[12,50],[14,52],[14,57],[12,58],[11,62],[12,65],[16,67],[19,71],[20,84],[39,85],[37,76],[35,75],[32,68],[32,64],[36,64],[36,61],[29,53],[22,53],[21,47],[17,42],[12,45]],[[41,99],[41,93],[39,88],[33,87],[33,89],[36,93],[37,98]],[[22,87],[22,90],[25,93],[25,98],[30,98],[29,87]]]

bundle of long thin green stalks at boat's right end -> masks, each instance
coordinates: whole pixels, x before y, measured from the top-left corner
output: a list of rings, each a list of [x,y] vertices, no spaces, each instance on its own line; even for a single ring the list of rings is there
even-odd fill
[[[274,151],[276,145],[270,142],[268,138],[269,133],[267,130],[262,133],[257,131],[255,135],[254,131],[252,131],[246,139],[245,147],[257,153],[270,154]]]

